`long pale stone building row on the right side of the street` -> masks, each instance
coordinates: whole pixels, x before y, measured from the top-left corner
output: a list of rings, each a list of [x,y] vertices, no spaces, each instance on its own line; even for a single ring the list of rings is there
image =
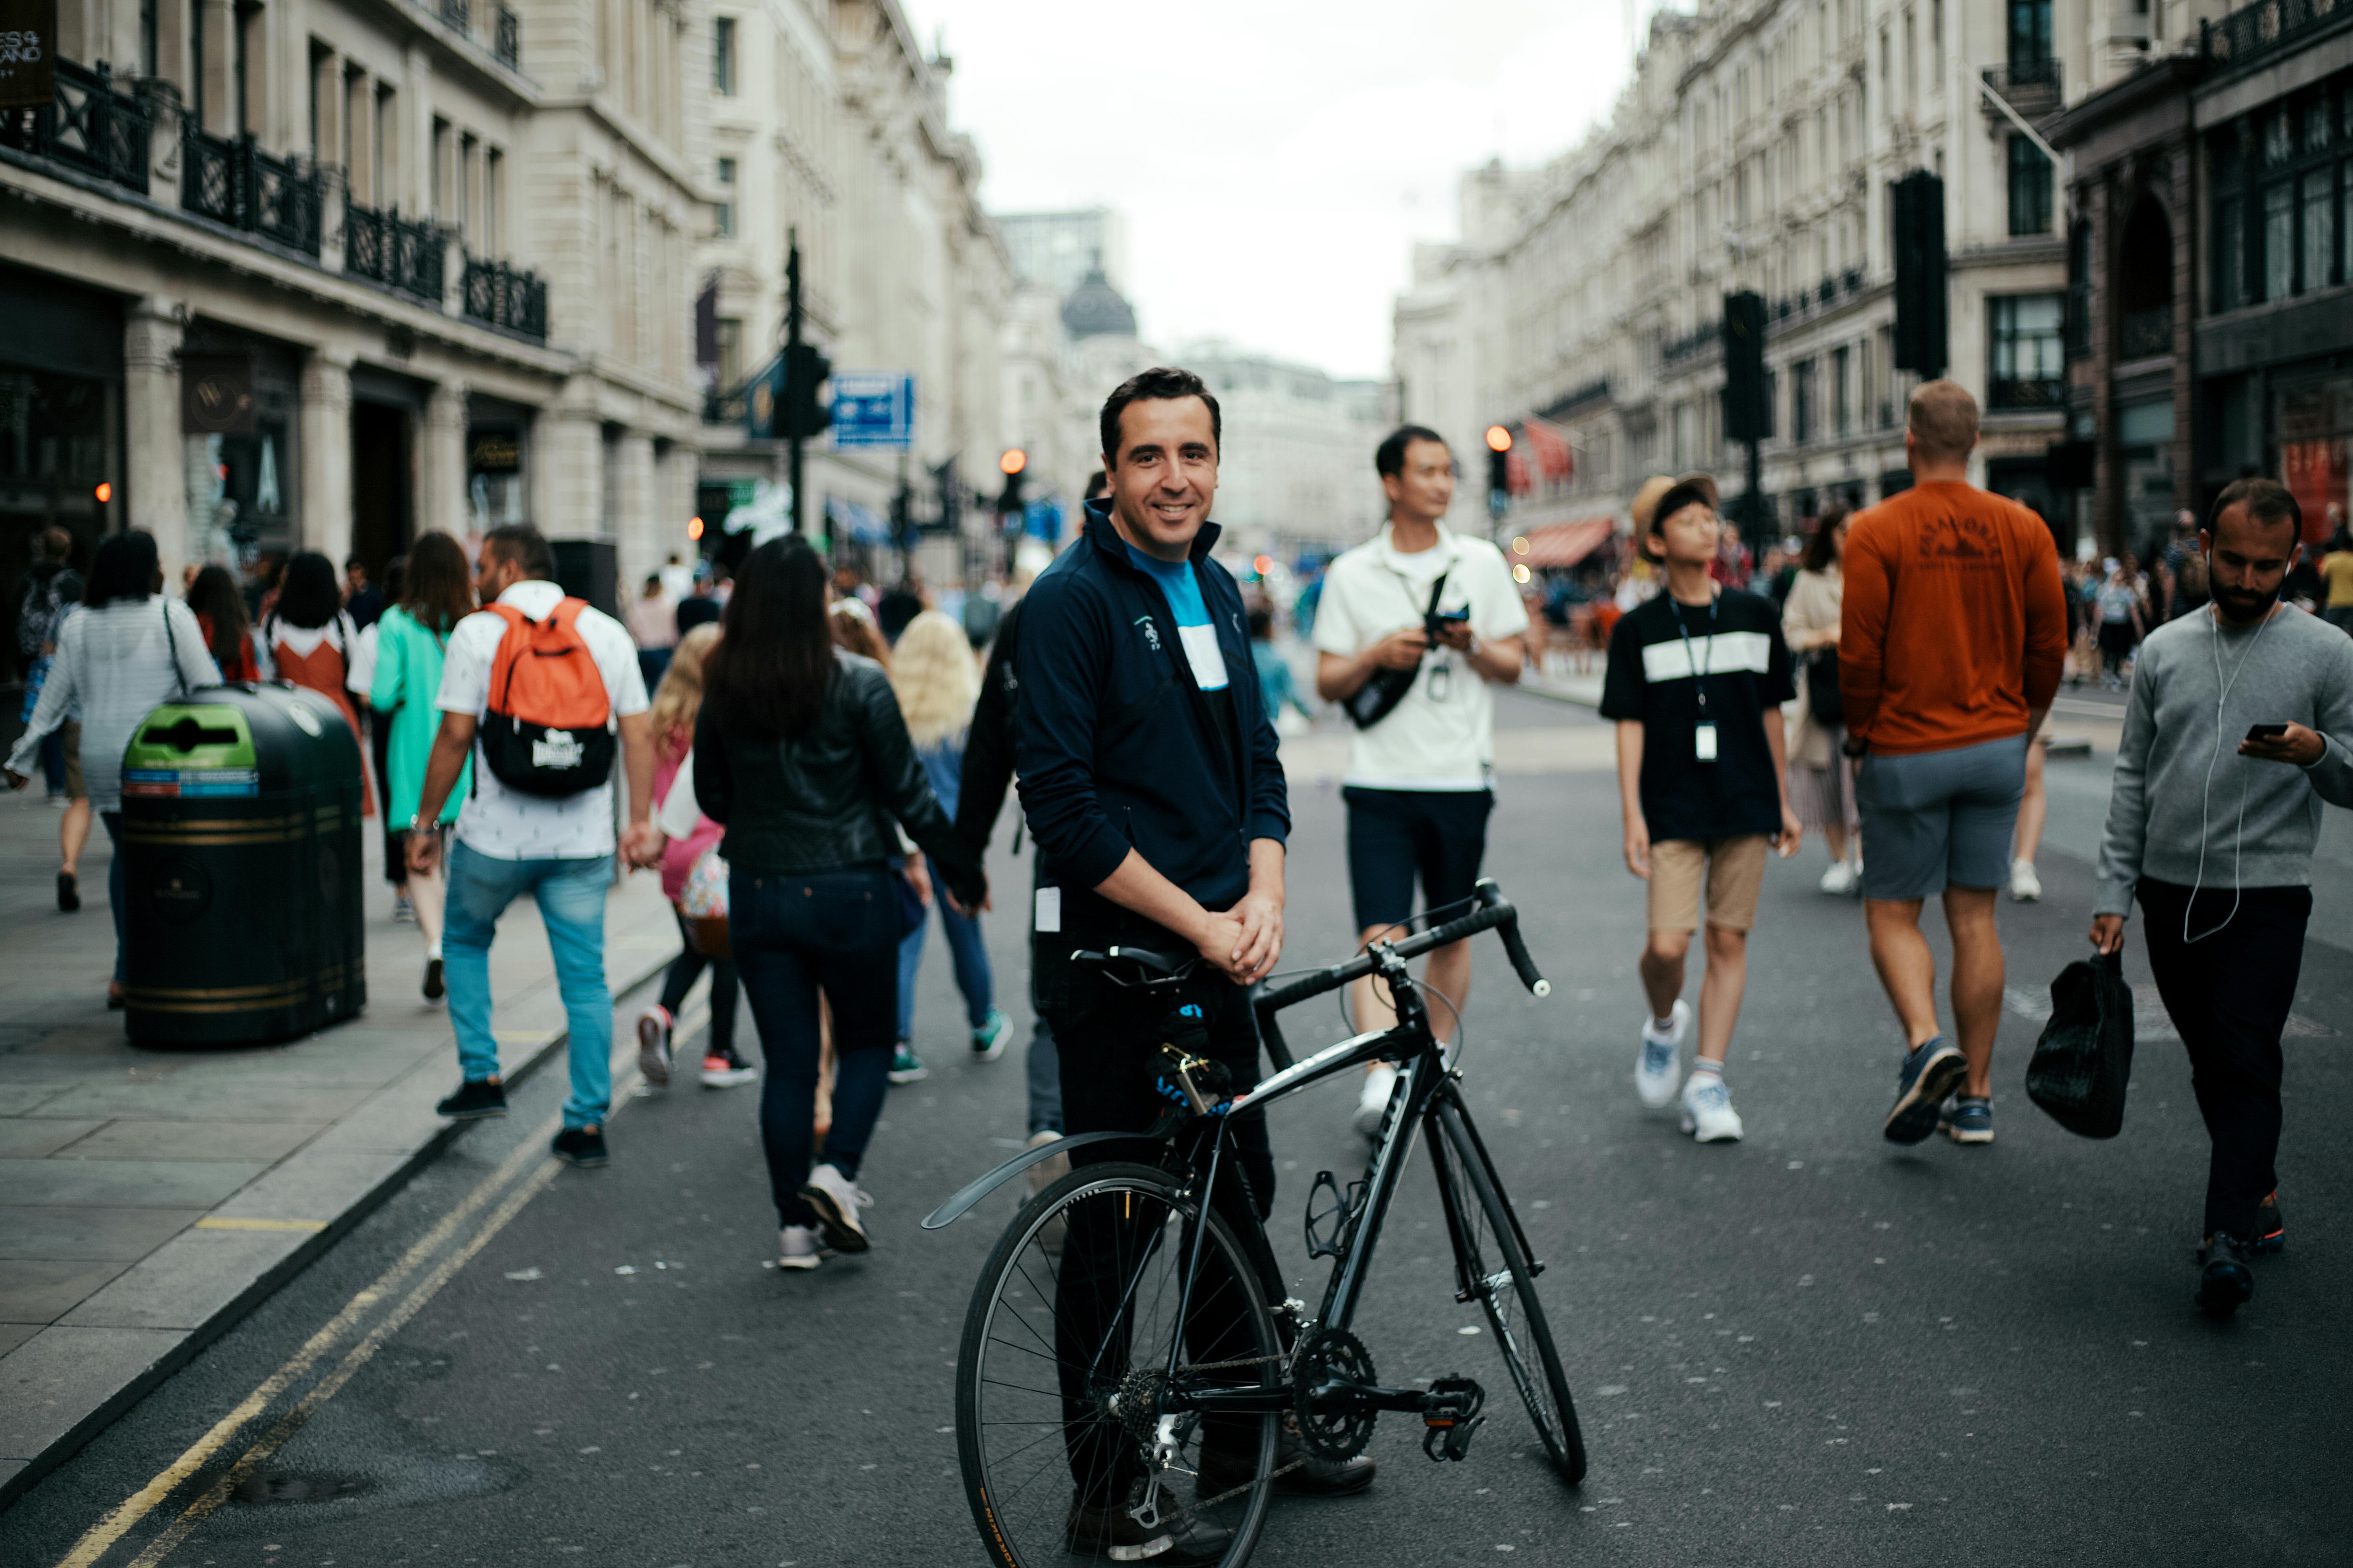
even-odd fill
[[[2162,7],[2167,14],[2181,7]],[[1407,418],[1478,451],[1527,428],[1513,527],[1619,515],[1722,440],[1722,296],[1765,296],[1774,531],[1908,484],[1889,188],[1944,181],[1948,369],[1984,404],[1972,477],[2075,529],[2066,428],[2064,172],[2028,129],[2127,66],[2080,0],[1711,0],[1661,12],[1607,127],[1537,169],[1464,176],[1461,235],[1419,247],[1395,306]],[[2174,19],[2174,26],[2195,21]],[[2024,127],[2021,127],[2024,120]],[[1482,489],[1482,487],[1480,487]],[[1459,508],[1482,496],[1464,487]],[[1482,522],[1482,520],[1480,520]]]

